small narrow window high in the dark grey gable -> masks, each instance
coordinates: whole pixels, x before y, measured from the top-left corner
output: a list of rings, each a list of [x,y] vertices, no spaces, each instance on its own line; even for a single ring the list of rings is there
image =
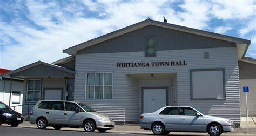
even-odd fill
[[[156,37],[146,37],[146,57],[156,56]]]

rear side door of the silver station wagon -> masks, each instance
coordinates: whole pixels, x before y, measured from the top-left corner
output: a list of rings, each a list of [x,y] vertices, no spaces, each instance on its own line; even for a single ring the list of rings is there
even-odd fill
[[[49,124],[62,124],[62,118],[64,114],[64,102],[52,101],[49,110],[45,112],[48,116]]]

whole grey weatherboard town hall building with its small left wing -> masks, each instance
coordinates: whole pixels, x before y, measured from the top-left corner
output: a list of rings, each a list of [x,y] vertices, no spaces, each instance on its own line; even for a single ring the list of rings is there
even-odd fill
[[[162,106],[186,105],[239,126],[238,63],[249,45],[247,39],[146,19],[63,50],[70,57],[9,75],[24,79],[25,104],[80,101],[122,124],[138,123],[141,113]]]

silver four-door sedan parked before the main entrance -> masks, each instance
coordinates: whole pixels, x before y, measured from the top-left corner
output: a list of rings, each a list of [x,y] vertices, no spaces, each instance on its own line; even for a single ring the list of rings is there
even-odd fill
[[[171,131],[220,135],[235,129],[232,120],[204,115],[190,106],[166,106],[153,113],[141,114],[139,126],[158,135],[169,134]]]

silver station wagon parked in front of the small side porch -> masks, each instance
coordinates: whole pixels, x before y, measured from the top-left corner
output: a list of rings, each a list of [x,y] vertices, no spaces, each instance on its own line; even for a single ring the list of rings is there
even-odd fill
[[[41,100],[32,108],[30,123],[39,129],[52,126],[55,130],[62,127],[81,128],[86,132],[105,132],[114,128],[113,118],[96,112],[84,103],[75,101]]]

